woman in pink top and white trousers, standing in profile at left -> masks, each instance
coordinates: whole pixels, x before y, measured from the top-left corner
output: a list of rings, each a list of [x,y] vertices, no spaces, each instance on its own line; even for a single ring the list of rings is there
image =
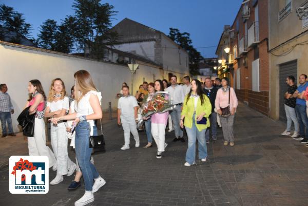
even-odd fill
[[[56,160],[51,149],[46,146],[45,133],[45,101],[46,96],[42,84],[38,80],[31,80],[28,83],[29,99],[26,107],[30,106],[30,114],[35,113],[34,136],[28,137],[29,155],[47,156],[49,168],[56,165]]]

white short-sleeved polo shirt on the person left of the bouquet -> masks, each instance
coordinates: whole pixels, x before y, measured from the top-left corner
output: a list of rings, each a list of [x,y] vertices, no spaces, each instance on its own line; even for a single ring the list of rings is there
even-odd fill
[[[134,107],[138,106],[136,98],[133,96],[121,97],[118,102],[118,109],[124,117],[134,117]]]

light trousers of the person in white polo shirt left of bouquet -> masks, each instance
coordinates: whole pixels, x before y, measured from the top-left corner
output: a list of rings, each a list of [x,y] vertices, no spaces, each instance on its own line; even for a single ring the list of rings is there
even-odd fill
[[[133,136],[133,139],[136,143],[139,143],[139,134],[137,131],[137,124],[134,120],[134,117],[124,117],[121,115],[121,123],[124,130],[124,144],[129,146],[130,133]]]

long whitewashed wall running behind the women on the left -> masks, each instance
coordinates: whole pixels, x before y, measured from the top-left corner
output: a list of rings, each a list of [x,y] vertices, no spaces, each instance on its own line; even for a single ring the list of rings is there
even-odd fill
[[[28,82],[38,79],[42,82],[44,91],[48,95],[51,80],[61,78],[70,94],[74,84],[75,71],[85,69],[90,72],[95,86],[102,92],[102,108],[117,107],[118,100],[115,95],[119,93],[122,82],[131,85],[131,73],[127,66],[85,60],[65,55],[47,53],[25,48],[12,47],[0,43],[0,83],[6,83],[8,93],[15,109],[12,116],[14,131],[17,131],[17,116],[21,113],[28,95]],[[162,78],[162,70],[146,65],[139,66],[134,74],[134,90],[146,81]]]

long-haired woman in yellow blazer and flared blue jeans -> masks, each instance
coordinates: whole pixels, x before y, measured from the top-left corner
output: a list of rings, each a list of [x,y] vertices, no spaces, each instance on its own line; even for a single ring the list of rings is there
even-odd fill
[[[196,164],[196,140],[198,139],[199,159],[202,162],[207,160],[207,148],[205,131],[209,127],[208,116],[211,114],[211,104],[202,90],[199,80],[191,81],[191,89],[185,96],[183,110],[181,113],[180,125],[185,126],[188,136],[188,148],[186,152],[185,166]],[[184,121],[185,117],[185,121]],[[203,118],[203,119],[202,119]],[[197,121],[206,119],[206,123],[198,124]],[[183,122],[184,121],[184,122]]]

